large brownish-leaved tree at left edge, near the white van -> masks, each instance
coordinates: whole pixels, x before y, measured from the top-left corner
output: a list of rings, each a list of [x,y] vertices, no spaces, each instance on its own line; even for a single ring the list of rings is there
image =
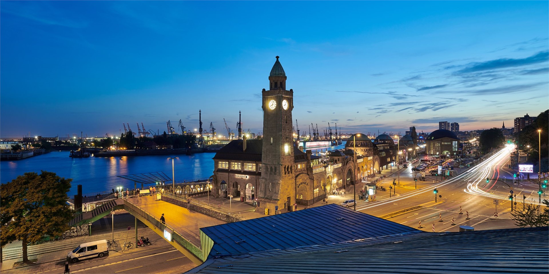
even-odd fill
[[[23,262],[28,262],[27,243],[39,241],[44,234],[58,237],[69,229],[73,210],[66,201],[72,179],[42,170],[27,172],[0,185],[0,244],[21,241]]]

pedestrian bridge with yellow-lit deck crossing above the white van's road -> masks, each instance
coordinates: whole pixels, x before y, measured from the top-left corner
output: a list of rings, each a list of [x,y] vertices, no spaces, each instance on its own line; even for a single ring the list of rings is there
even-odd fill
[[[163,195],[165,196],[165,195]],[[212,218],[208,215],[199,213],[195,210],[189,210],[186,207],[178,206],[174,203],[159,201],[156,196],[132,197],[127,199],[113,199],[102,204],[91,212],[81,213],[69,222],[70,226],[78,226],[81,224],[91,223],[103,218],[117,209],[124,209],[128,213],[135,216],[135,240],[138,241],[137,220],[142,221],[160,237],[163,237],[173,247],[191,259],[196,265],[202,264],[208,254],[204,254],[204,247],[201,247],[200,235],[201,227],[215,226],[225,224],[230,221],[238,221],[239,219],[231,216],[230,213],[218,212],[216,215],[222,221]],[[170,198],[170,197],[165,197]],[[188,204],[187,200],[180,197],[171,197],[175,203],[185,203],[187,207],[200,206]],[[192,209],[197,209],[192,208]],[[208,209],[213,210],[213,209]],[[201,211],[201,210],[199,210]],[[160,222],[160,216],[164,213],[165,224]],[[116,213],[115,213],[116,214]]]

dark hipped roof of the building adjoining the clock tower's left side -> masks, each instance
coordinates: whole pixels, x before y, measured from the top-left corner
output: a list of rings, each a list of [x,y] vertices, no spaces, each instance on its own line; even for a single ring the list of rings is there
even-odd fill
[[[242,151],[242,140],[232,140],[215,153],[213,159],[261,162],[263,140],[247,140],[246,151]]]

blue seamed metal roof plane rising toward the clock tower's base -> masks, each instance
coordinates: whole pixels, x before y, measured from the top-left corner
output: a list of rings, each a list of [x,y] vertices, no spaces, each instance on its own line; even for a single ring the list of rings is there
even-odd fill
[[[209,258],[422,232],[337,204],[200,230],[214,241]]]

